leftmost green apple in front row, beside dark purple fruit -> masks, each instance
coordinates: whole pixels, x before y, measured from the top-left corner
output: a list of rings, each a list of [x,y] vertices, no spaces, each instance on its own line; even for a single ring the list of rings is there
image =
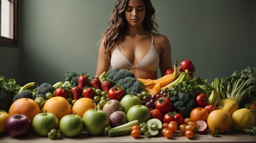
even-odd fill
[[[32,128],[39,136],[47,136],[52,129],[58,129],[59,121],[53,113],[38,113],[32,121]]]

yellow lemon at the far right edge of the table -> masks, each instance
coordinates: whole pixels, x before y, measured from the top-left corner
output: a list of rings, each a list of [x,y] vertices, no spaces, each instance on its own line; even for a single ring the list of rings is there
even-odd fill
[[[247,108],[238,109],[232,114],[231,123],[235,131],[251,128],[254,124],[254,114]]]

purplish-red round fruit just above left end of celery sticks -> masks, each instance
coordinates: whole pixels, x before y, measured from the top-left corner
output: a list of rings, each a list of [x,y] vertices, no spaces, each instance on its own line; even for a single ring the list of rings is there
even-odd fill
[[[128,122],[126,114],[123,111],[115,111],[110,116],[110,126],[112,128],[123,125]]]

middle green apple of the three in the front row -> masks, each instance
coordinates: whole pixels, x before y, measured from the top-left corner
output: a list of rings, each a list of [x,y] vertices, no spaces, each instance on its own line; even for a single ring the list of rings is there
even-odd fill
[[[74,114],[67,114],[61,118],[59,128],[61,133],[67,137],[79,136],[83,131],[83,119]]]

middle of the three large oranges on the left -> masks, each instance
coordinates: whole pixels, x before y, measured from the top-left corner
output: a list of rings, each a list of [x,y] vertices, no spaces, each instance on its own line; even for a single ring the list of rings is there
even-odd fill
[[[60,96],[48,99],[42,108],[42,112],[45,112],[46,110],[48,113],[55,114],[59,121],[63,116],[71,114],[70,103],[67,99]]]

